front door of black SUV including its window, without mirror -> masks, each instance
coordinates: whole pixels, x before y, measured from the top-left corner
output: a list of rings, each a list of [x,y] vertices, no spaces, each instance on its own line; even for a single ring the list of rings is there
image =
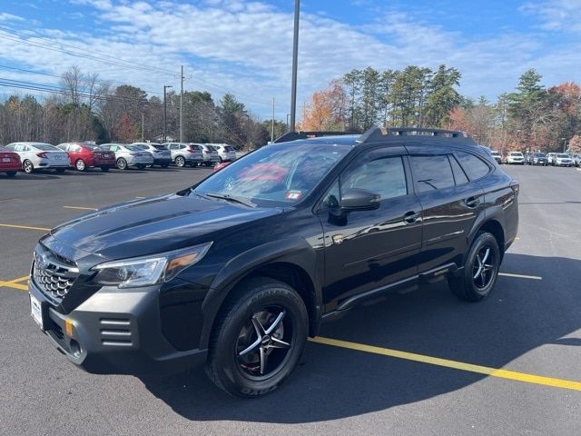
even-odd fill
[[[380,147],[359,155],[325,194],[319,217],[325,241],[326,311],[360,292],[417,273],[421,209],[411,189],[403,147]],[[381,196],[379,208],[338,218],[341,193],[365,189]]]

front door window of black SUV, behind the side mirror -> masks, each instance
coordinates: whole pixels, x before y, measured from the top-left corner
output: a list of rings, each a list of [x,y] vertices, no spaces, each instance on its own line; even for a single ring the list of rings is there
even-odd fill
[[[341,192],[351,188],[379,193],[382,200],[406,195],[408,187],[401,157],[384,157],[348,170],[341,175]]]

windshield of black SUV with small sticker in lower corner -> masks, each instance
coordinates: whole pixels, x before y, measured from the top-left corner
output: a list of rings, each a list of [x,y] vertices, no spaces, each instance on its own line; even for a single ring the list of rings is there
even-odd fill
[[[220,193],[259,205],[298,203],[350,152],[332,144],[273,144],[213,173],[192,193]]]

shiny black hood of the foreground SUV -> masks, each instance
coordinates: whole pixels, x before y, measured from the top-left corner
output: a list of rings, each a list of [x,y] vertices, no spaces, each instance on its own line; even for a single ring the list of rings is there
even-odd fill
[[[73,249],[74,257],[84,252],[121,259],[212,241],[213,233],[277,213],[281,209],[172,194],[83,215],[54,228],[51,239]]]

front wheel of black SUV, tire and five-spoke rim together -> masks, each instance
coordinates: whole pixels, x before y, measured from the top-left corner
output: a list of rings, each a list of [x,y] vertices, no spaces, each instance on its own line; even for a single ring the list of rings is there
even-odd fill
[[[299,294],[274,279],[253,278],[233,292],[214,322],[206,372],[231,395],[259,397],[291,375],[307,341],[309,317]]]

